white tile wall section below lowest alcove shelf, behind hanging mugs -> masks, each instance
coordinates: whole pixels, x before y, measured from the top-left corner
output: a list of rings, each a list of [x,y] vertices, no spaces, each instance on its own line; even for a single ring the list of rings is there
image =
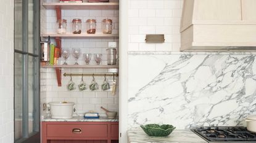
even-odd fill
[[[102,70],[102,69],[101,69]],[[70,73],[95,73],[97,69],[63,69],[62,74],[65,72]],[[97,71],[97,73],[105,73],[107,69],[102,71]],[[118,77],[115,77],[117,80]],[[91,84],[93,77],[83,77],[86,83],[87,89],[85,91],[80,91],[78,84],[81,83],[81,76],[73,76],[72,81],[75,83],[75,90],[69,91],[67,88],[70,82],[70,76],[65,77],[62,75],[62,87],[57,85],[57,77],[54,69],[41,68],[41,104],[49,102],[75,102],[75,113],[83,114],[91,110],[99,112],[102,117],[105,117],[104,110],[100,109],[101,106],[109,110],[114,110],[118,112],[118,86],[115,95],[112,95],[111,88],[113,83],[113,77],[107,77],[107,82],[110,84],[110,90],[103,91],[101,85],[104,82],[104,76],[95,77],[95,81],[99,85],[99,89],[96,91],[91,91],[88,85]],[[49,113],[47,110],[42,112],[43,115]]]

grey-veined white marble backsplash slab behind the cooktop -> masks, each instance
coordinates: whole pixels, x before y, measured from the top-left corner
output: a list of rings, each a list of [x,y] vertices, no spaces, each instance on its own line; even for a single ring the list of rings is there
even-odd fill
[[[128,127],[244,125],[256,109],[255,55],[129,55]]]

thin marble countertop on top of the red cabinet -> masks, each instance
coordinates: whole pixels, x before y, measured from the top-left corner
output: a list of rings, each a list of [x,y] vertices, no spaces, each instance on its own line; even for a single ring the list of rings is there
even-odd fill
[[[109,119],[107,117],[99,118],[84,118],[84,117],[73,117],[73,118],[51,118],[51,117],[42,117],[41,122],[118,122],[118,118]]]

